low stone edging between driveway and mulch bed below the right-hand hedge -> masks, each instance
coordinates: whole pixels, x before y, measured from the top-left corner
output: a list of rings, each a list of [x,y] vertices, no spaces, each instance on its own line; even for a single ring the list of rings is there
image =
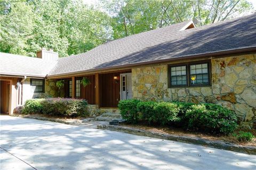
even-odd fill
[[[211,148],[241,152],[244,154],[256,155],[256,147],[253,147],[253,146],[241,146],[241,145],[236,145],[229,142],[212,141],[212,140],[207,140],[199,137],[187,137],[187,136],[180,136],[180,135],[173,135],[173,134],[150,132],[147,130],[118,126],[118,125],[104,124],[104,125],[97,125],[97,128],[102,130],[110,130],[110,131],[117,131],[117,132],[123,132],[123,133],[135,134],[135,135],[142,135],[142,136],[151,137],[151,138],[173,140],[178,142],[191,143],[194,145],[201,145],[204,147],[211,147]]]

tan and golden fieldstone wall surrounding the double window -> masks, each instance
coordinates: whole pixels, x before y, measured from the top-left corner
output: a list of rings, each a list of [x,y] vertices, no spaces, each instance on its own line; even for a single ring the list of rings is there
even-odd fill
[[[132,69],[133,98],[214,103],[235,111],[246,128],[256,128],[256,54],[211,63],[211,87],[168,88],[167,65]]]

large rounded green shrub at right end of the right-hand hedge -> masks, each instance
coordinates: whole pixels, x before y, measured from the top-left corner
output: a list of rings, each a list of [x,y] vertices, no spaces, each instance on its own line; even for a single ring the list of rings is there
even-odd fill
[[[190,130],[229,134],[238,126],[233,111],[215,104],[191,105],[185,117],[189,120],[187,129]]]

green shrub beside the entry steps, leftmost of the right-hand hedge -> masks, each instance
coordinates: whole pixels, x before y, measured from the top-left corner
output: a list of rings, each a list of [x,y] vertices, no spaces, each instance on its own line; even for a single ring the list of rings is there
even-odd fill
[[[139,120],[139,113],[137,111],[138,103],[140,103],[140,100],[136,100],[136,99],[119,101],[118,108],[120,109],[120,113],[128,123],[134,124],[138,122]]]

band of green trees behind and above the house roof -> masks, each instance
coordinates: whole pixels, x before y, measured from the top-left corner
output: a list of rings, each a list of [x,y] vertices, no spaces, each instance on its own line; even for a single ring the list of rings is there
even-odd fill
[[[205,25],[253,12],[247,0],[2,0],[0,10],[1,52],[32,57],[41,47],[64,57],[193,18]]]

